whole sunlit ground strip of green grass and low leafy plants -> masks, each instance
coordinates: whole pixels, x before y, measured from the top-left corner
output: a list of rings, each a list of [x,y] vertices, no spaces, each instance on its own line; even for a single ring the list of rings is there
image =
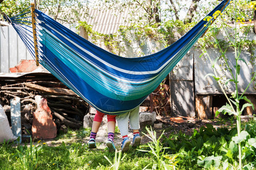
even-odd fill
[[[255,120],[242,126],[249,133],[243,145],[243,165],[255,168]],[[166,129],[168,130],[168,129]],[[237,168],[237,145],[232,141],[236,129],[207,125],[193,135],[171,134],[160,140],[154,130],[145,128],[144,135],[152,142],[125,154],[108,152],[107,148],[89,149],[83,138],[90,129],[71,130],[60,133],[54,142],[28,141],[24,145],[3,144],[0,147],[0,169],[228,169]],[[143,135],[142,133],[142,135]],[[160,132],[163,134],[163,131]],[[256,139],[256,138],[255,138]],[[162,141],[162,142],[161,142]],[[119,147],[117,147],[119,150]],[[212,161],[218,158],[218,162]],[[249,168],[248,168],[249,167]],[[251,168],[250,168],[251,167]]]

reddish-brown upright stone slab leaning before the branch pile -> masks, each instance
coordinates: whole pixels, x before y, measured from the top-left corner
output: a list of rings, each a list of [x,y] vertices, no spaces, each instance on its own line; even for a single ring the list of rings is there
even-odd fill
[[[35,96],[38,108],[33,114],[32,137],[38,139],[52,139],[57,135],[57,127],[53,121],[51,109],[47,100],[42,96]]]

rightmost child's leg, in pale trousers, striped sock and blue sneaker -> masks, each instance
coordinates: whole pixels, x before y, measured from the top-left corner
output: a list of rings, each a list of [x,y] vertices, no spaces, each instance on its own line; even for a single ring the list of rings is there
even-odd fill
[[[137,147],[141,144],[141,137],[139,136],[139,107],[131,111],[130,125],[131,129],[133,129],[133,144],[131,146]]]

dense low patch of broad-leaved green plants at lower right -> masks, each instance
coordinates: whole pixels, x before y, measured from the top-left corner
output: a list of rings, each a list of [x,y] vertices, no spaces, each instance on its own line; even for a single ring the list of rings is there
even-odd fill
[[[250,122],[245,127],[248,134],[242,139],[242,160],[247,167],[256,165],[255,162],[255,121]],[[220,128],[215,129],[208,124],[201,127],[199,131],[194,130],[193,135],[183,133],[171,134],[163,141],[166,150],[170,154],[179,154],[177,168],[198,169],[197,165],[204,168],[215,167],[218,169],[236,168],[239,155],[237,144],[237,129]]]

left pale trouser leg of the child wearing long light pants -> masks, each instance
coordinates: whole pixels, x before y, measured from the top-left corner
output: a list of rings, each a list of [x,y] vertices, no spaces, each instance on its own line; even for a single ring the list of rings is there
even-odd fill
[[[115,117],[115,120],[117,120],[118,128],[122,136],[125,136],[129,133],[128,131],[129,116],[130,116],[130,111],[124,114],[119,114]]]

